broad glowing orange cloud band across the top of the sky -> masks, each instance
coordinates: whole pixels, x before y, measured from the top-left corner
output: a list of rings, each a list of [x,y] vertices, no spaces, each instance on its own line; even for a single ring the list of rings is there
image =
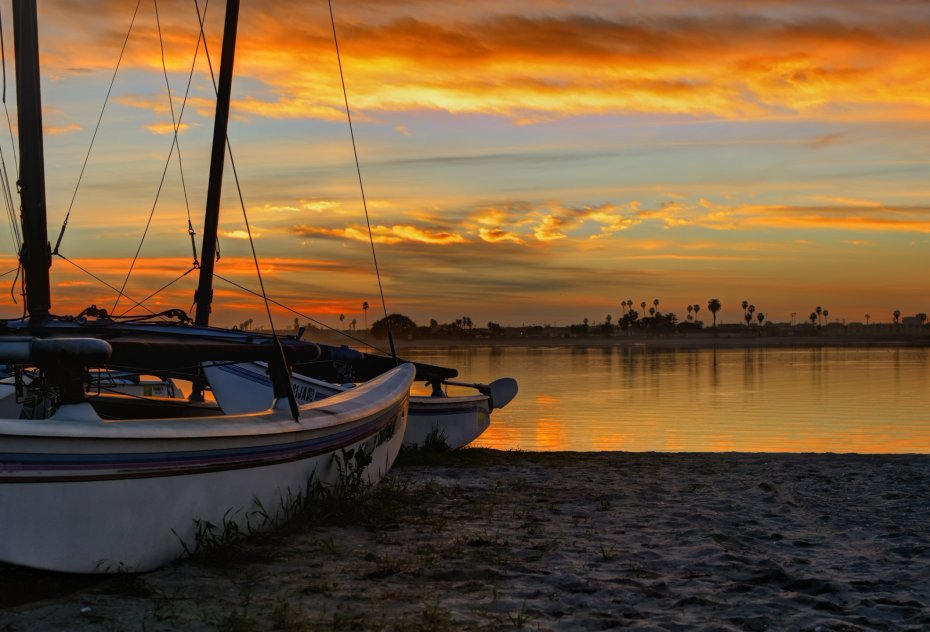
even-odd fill
[[[161,36],[153,12],[140,13],[125,65],[161,72],[161,37],[169,72],[190,69],[196,16],[189,5],[166,4]],[[648,4],[638,5],[638,13],[588,7],[588,15],[554,6],[548,14],[526,12],[519,3],[508,5],[509,15],[482,5],[466,10],[453,3],[443,12],[412,6],[422,17],[405,15],[401,5],[337,8],[342,65],[359,117],[419,109],[498,114],[518,123],[636,112],[729,119],[928,117],[930,27],[898,3],[874,3],[866,16],[844,13],[833,3],[827,13],[823,3],[812,2],[803,7],[808,11],[785,18],[706,0],[671,12]],[[50,73],[112,67],[130,17],[125,6],[83,12],[93,19],[60,7],[46,13],[57,20],[52,28],[70,33],[50,42]],[[207,24],[214,65],[220,13],[211,11]],[[75,21],[86,28],[74,28]],[[76,41],[80,37],[88,41]],[[234,109],[342,120],[332,34],[319,7],[244,7],[238,43],[237,76],[267,90],[250,88]],[[202,47],[200,56],[204,77]]]

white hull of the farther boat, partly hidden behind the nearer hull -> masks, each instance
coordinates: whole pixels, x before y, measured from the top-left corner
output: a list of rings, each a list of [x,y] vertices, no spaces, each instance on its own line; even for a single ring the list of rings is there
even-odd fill
[[[204,370],[214,398],[227,413],[254,411],[265,406],[273,397],[271,379],[263,363],[215,363],[205,366]],[[319,401],[346,390],[297,373],[291,375],[291,381],[300,402]],[[490,424],[490,398],[487,395],[412,395],[404,445],[423,447],[427,437],[435,434],[455,450],[477,439]]]

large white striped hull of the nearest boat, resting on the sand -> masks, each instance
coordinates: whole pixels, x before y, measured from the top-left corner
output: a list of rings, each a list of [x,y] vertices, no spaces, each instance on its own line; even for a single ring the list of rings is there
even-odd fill
[[[199,419],[102,421],[87,404],[0,420],[0,561],[75,573],[139,572],[225,534],[290,517],[346,451],[390,468],[413,368],[300,407]],[[350,467],[352,460],[349,459]],[[209,525],[213,525],[210,527]]]

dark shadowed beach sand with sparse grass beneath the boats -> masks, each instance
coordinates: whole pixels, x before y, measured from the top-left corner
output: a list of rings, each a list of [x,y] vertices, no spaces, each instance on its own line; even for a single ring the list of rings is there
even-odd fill
[[[466,450],[357,507],[145,575],[2,567],[33,588],[0,630],[930,629],[930,456]]]

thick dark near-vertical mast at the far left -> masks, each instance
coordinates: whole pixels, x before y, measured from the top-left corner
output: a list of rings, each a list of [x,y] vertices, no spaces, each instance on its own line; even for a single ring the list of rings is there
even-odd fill
[[[23,247],[19,254],[32,322],[51,309],[51,248],[45,218],[45,158],[42,146],[42,94],[39,89],[39,24],[35,0],[13,0],[16,51],[16,112],[19,123],[19,196]]]

